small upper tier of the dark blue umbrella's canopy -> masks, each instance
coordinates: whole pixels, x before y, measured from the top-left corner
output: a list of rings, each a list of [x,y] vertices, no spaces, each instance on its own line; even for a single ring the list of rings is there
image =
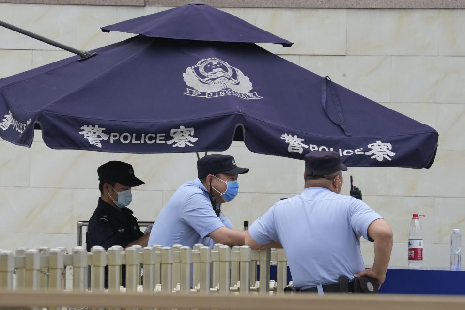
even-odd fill
[[[169,25],[169,27],[167,27]],[[219,42],[293,43],[209,5],[187,4],[102,27],[148,37]]]

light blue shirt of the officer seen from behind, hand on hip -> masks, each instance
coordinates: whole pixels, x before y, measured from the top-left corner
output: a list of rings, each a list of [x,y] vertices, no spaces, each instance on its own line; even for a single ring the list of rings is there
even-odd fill
[[[279,241],[286,252],[293,284],[302,289],[354,278],[365,270],[360,236],[382,218],[365,202],[329,189],[311,187],[275,203],[249,228],[259,244]],[[372,240],[370,240],[372,241]]]

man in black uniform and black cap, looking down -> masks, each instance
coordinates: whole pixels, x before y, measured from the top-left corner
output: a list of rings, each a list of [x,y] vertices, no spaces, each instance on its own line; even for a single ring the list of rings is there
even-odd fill
[[[144,184],[134,175],[131,165],[121,161],[109,161],[98,167],[100,198],[97,208],[89,220],[86,244],[105,249],[119,245],[126,248],[139,244],[147,246],[149,235],[144,235],[137,224],[137,218],[127,208],[131,203],[131,188]]]

